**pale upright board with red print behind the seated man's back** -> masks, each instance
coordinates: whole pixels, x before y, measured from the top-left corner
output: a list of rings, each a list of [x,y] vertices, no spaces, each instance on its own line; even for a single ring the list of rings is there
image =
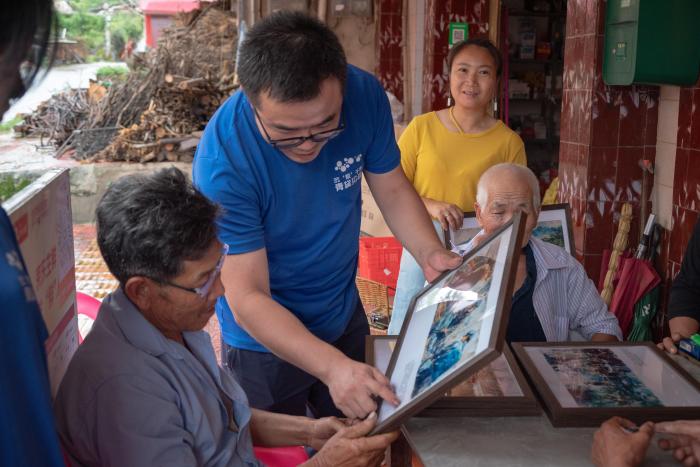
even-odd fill
[[[3,208],[12,221],[49,332],[45,346],[55,394],[78,348],[68,170],[45,172],[3,203]]]

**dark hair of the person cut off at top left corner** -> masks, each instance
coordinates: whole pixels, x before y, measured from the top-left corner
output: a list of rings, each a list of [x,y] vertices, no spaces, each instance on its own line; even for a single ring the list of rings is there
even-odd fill
[[[29,59],[31,68],[23,77],[25,87],[29,87],[40,67],[51,66],[53,62],[55,48],[50,42],[58,31],[53,0],[8,2],[3,9],[5,11],[0,15],[0,60],[14,72]]]

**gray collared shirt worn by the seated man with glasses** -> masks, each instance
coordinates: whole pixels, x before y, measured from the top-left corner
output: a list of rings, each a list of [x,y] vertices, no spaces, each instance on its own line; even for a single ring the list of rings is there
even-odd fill
[[[259,466],[251,412],[209,335],[167,339],[121,289],[108,296],[54,403],[71,465]]]

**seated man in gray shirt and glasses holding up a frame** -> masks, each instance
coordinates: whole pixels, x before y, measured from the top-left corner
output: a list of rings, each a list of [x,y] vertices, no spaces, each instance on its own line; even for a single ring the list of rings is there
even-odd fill
[[[175,168],[114,183],[97,239],[119,289],[100,308],[54,404],[71,465],[257,466],[253,443],[307,445],[308,465],[376,465],[396,433],[248,406],[202,331],[223,294],[219,210]]]

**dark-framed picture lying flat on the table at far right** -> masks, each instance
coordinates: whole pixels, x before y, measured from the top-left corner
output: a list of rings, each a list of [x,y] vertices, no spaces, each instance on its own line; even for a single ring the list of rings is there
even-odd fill
[[[700,383],[650,342],[513,343],[552,425],[700,418]]]

